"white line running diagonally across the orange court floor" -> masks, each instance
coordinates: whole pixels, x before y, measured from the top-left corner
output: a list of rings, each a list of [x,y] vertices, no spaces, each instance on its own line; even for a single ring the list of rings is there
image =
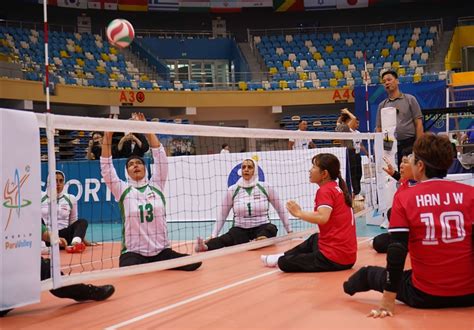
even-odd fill
[[[361,241],[358,241],[357,242],[357,245],[361,245],[365,242],[368,242],[372,239],[372,237],[369,237],[369,238],[365,238]],[[189,304],[191,302],[194,302],[196,300],[199,300],[199,299],[202,299],[202,298],[206,298],[206,297],[209,297],[209,296],[212,296],[216,293],[219,293],[219,292],[222,292],[222,291],[225,291],[225,290],[228,290],[228,289],[232,289],[236,286],[239,286],[241,284],[245,284],[245,283],[248,283],[248,282],[251,282],[251,281],[254,281],[254,280],[258,280],[262,277],[265,277],[265,276],[269,276],[269,275],[272,275],[272,274],[275,274],[275,273],[280,273],[281,271],[279,269],[277,270],[273,270],[273,271],[270,271],[270,272],[267,272],[267,273],[263,273],[263,274],[260,274],[260,275],[257,275],[257,276],[253,276],[253,277],[250,277],[250,278],[247,278],[245,280],[242,280],[242,281],[238,281],[238,282],[235,282],[235,283],[232,283],[232,284],[229,284],[229,285],[226,285],[226,286],[223,286],[223,287],[220,287],[218,289],[214,289],[214,290],[211,290],[211,291],[208,291],[206,293],[202,293],[200,295],[197,295],[197,296],[194,296],[194,297],[191,297],[191,298],[188,298],[188,299],[185,299],[185,300],[181,300],[180,302],[177,302],[177,303],[174,303],[174,304],[171,304],[171,305],[168,305],[168,306],[165,306],[165,307],[162,307],[162,308],[159,308],[157,310],[154,310],[152,312],[149,312],[149,313],[146,313],[146,314],[143,314],[143,315],[140,315],[140,316],[137,316],[137,317],[134,317],[133,319],[130,319],[130,320],[127,320],[127,321],[124,321],[124,322],[121,322],[121,323],[118,323],[118,324],[114,324],[114,325],[111,325],[107,328],[105,328],[106,330],[112,330],[112,329],[119,329],[119,328],[122,328],[124,326],[127,326],[127,325],[130,325],[132,323],[135,323],[135,322],[139,322],[139,321],[142,321],[146,318],[149,318],[151,316],[155,316],[155,315],[158,315],[158,314],[161,314],[161,313],[164,313],[164,312],[167,312],[169,310],[172,310],[174,308],[177,308],[177,307],[181,307],[183,305],[186,305],[186,304]]]

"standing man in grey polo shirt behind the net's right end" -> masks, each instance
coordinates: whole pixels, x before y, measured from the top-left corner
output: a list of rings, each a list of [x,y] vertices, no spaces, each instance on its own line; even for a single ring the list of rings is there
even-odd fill
[[[416,98],[410,94],[400,92],[398,88],[398,74],[388,70],[382,74],[382,81],[387,91],[388,98],[383,100],[377,109],[376,132],[382,132],[381,109],[393,107],[397,109],[397,126],[395,137],[397,139],[397,164],[403,154],[411,153],[415,140],[423,134],[423,120],[420,105]],[[404,152],[404,149],[407,149]]]

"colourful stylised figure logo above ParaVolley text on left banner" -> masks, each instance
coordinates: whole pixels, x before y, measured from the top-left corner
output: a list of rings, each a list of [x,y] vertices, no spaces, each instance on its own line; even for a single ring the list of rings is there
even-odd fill
[[[18,169],[15,169],[15,174],[13,180],[7,179],[5,187],[3,188],[3,207],[9,209],[7,224],[5,230],[7,230],[8,225],[10,224],[13,211],[16,212],[17,216],[20,217],[21,209],[27,207],[31,204],[31,201],[23,198],[21,194],[21,189],[25,182],[30,177],[30,166],[25,167],[25,174],[20,177]]]

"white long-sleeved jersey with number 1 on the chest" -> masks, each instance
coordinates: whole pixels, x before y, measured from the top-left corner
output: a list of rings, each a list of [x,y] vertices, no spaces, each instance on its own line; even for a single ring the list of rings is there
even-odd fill
[[[234,226],[240,228],[255,228],[270,222],[268,217],[269,203],[278,212],[287,232],[291,230],[288,214],[280,203],[276,191],[265,182],[256,186],[243,188],[237,184],[230,186],[217,214],[216,225],[212,237],[217,237],[224,226],[225,219],[231,209],[234,211]]]

